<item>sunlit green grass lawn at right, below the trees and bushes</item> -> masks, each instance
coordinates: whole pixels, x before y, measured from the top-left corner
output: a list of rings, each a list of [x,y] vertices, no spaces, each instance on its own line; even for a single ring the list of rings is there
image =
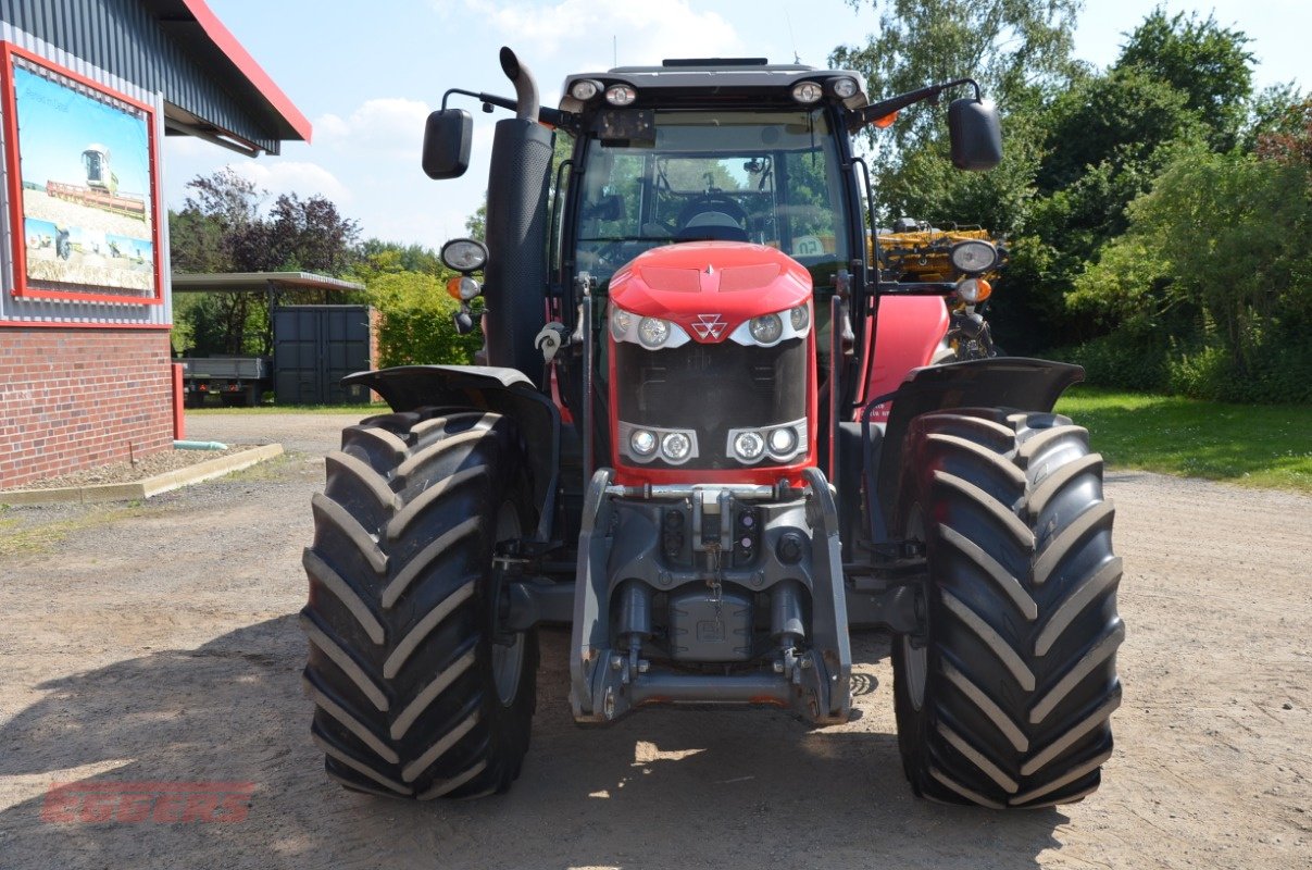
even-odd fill
[[[1077,387],[1057,412],[1110,466],[1312,493],[1312,405],[1242,405]]]

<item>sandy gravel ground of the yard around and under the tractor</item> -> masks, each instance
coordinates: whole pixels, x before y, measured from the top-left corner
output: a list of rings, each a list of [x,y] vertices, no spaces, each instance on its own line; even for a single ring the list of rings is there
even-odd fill
[[[1312,499],[1141,472],[1107,480],[1126,695],[1082,803],[913,799],[879,634],[854,638],[845,726],[651,710],[585,730],[565,699],[568,636],[547,631],[534,745],[508,795],[342,791],[310,741],[293,614],[308,500],[349,421],[195,417],[190,437],[290,453],[126,513],[0,513],[8,537],[80,524],[54,550],[0,556],[0,867],[1312,866]],[[253,783],[245,819],[41,820],[51,783],[202,779]]]

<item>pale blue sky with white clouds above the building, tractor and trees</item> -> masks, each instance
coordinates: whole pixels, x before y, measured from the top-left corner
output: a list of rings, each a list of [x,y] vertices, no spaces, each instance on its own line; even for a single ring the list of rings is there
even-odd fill
[[[278,157],[241,157],[216,146],[171,136],[164,190],[182,205],[185,182],[224,165],[273,194],[323,194],[361,223],[363,236],[437,248],[463,235],[464,219],[487,188],[492,122],[470,101],[475,163],[458,181],[429,181],[420,171],[424,118],[451,87],[513,96],[497,50],[513,47],[534,72],[543,102],[555,105],[568,72],[677,56],[766,56],[823,67],[837,45],[858,45],[878,24],[870,4],[845,0],[386,0],[369,5],[323,0],[207,0],[291,101],[314,123],[314,142],[285,144]],[[1076,55],[1105,67],[1124,33],[1156,0],[1089,0]],[[1166,0],[1166,10],[1212,12],[1253,38],[1258,87],[1312,81],[1308,0]],[[362,10],[367,12],[362,13]]]

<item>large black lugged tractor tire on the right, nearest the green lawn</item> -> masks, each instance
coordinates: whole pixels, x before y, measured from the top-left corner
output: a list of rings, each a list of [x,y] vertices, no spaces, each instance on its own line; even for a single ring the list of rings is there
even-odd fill
[[[907,778],[950,803],[1078,800],[1120,703],[1102,457],[1052,413],[928,413],[907,437],[899,528],[928,562],[926,632],[892,643]]]

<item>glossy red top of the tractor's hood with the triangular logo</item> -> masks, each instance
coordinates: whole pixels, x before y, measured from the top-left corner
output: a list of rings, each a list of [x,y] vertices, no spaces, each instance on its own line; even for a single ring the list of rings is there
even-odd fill
[[[743,241],[687,241],[653,248],[610,280],[610,300],[644,318],[684,327],[694,341],[723,341],[743,321],[811,299],[811,273],[779,251]],[[716,318],[714,332],[695,329]]]

